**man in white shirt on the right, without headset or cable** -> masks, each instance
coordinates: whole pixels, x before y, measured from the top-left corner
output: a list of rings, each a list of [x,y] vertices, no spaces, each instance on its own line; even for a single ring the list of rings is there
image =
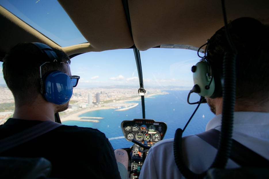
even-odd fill
[[[226,168],[240,166],[268,166],[269,160],[269,27],[259,21],[243,17],[228,24],[231,40],[237,50],[236,57],[236,99],[232,139],[250,149],[248,157],[261,158],[262,162],[242,164],[228,159]],[[219,73],[220,84],[223,72],[223,57],[231,51],[225,28],[218,30],[208,41],[206,59],[213,74]],[[214,76],[215,77],[215,76]],[[218,80],[217,78],[215,80]],[[221,88],[220,88],[221,89]],[[215,88],[216,90],[216,88]],[[221,130],[223,96],[214,92],[207,98],[211,111],[216,114],[206,127]],[[208,134],[207,134],[208,136]],[[216,136],[212,135],[211,138]],[[139,178],[185,178],[178,169],[173,151],[174,139],[158,142],[148,152]],[[234,142],[235,143],[235,142]],[[233,143],[233,144],[234,144]],[[182,138],[182,154],[187,168],[196,174],[205,172],[213,163],[217,149],[198,135]],[[240,158],[245,150],[235,153]],[[255,154],[255,155],[254,155]],[[255,156],[255,157],[253,157]],[[250,160],[245,157],[246,161]]]

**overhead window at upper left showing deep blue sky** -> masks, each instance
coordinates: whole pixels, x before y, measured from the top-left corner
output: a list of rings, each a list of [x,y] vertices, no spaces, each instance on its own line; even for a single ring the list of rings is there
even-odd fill
[[[0,5],[60,46],[87,42],[58,1],[2,0]]]

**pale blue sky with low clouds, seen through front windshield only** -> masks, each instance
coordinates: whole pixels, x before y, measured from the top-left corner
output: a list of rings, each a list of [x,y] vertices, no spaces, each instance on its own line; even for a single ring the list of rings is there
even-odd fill
[[[143,82],[148,86],[192,87],[192,65],[197,52],[184,49],[152,48],[140,51]],[[71,59],[73,75],[81,76],[78,86],[139,85],[132,49],[89,52]]]

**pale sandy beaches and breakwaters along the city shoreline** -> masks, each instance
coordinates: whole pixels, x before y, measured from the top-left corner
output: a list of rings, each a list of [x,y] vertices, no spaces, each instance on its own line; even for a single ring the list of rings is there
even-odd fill
[[[145,96],[145,98],[154,98],[152,96],[154,96],[154,95],[164,95],[164,94],[168,94],[168,93],[148,94],[147,96]],[[116,103],[129,102],[129,101],[139,101],[140,99],[141,99],[141,97],[139,96],[139,97],[134,98],[132,100],[119,100]],[[115,111],[124,111],[124,110],[129,110],[131,108],[134,108],[134,107],[136,107],[138,105],[139,105],[139,103],[135,103],[135,104],[133,104],[133,105],[131,105],[129,107],[120,108],[120,109],[115,109],[112,106],[111,107],[102,106],[102,107],[96,107],[96,108],[85,108],[85,109],[82,109],[82,110],[73,111],[70,114],[66,114],[63,117],[60,116],[60,119],[61,119],[62,122],[68,121],[68,120],[99,122],[99,120],[96,120],[96,119],[102,119],[102,117],[79,117],[79,115],[84,114],[86,112],[96,111],[96,110],[103,110],[103,109],[115,109]],[[84,119],[82,119],[82,118],[84,118]],[[87,119],[85,119],[85,118],[87,118]]]

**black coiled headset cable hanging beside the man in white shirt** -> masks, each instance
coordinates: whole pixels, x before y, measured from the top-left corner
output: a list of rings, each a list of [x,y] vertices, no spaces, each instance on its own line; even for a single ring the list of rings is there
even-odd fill
[[[234,115],[234,105],[235,105],[235,85],[236,85],[236,56],[237,50],[230,40],[230,34],[228,31],[228,23],[226,19],[225,5],[224,0],[222,2],[222,12],[224,16],[224,24],[226,31],[226,38],[231,48],[231,52],[225,53],[223,59],[223,107],[222,107],[222,125],[221,133],[219,139],[219,147],[214,162],[211,164],[210,168],[225,168],[227,161],[230,157],[230,151],[232,146],[232,128],[233,128],[233,115]],[[198,109],[202,98],[199,101],[197,108]],[[192,116],[194,115],[192,114]],[[191,116],[191,118],[192,118]],[[189,121],[191,120],[189,119]],[[188,123],[189,123],[188,121]],[[187,124],[188,124],[187,123]],[[186,124],[186,125],[187,125]],[[185,130],[186,126],[184,127]],[[204,178],[207,171],[202,172],[201,174],[196,174],[192,172],[185,164],[182,153],[182,129],[177,129],[174,137],[174,157],[175,163],[185,178]]]

